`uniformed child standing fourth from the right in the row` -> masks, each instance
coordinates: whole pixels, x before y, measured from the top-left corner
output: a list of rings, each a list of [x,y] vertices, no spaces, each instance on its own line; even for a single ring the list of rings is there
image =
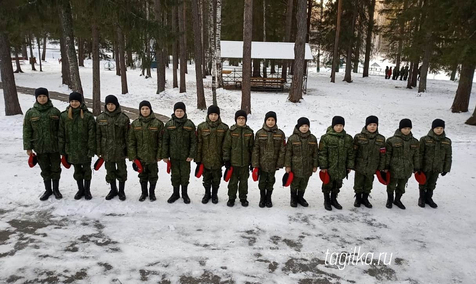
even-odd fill
[[[334,116],[332,125],[327,128],[327,133],[321,136],[319,142],[319,165],[321,171],[327,171],[330,177],[328,184],[322,184],[326,210],[332,210],[331,205],[342,209],[337,202],[337,195],[342,187],[342,180],[354,169],[352,136],[346,134],[344,126],[344,118]]]

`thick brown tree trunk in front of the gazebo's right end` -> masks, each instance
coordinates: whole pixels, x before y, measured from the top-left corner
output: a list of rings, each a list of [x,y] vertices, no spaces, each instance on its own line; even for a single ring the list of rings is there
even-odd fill
[[[306,51],[306,0],[297,0],[296,43],[294,44],[293,82],[288,99],[298,103],[303,92],[304,54]]]

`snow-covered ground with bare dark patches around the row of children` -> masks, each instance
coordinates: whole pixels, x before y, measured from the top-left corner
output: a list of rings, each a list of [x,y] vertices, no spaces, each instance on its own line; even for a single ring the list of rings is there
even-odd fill
[[[92,70],[81,68],[85,97],[91,98]],[[61,85],[60,65],[49,60],[45,72],[16,74],[25,87],[46,87],[69,93]],[[200,123],[206,112],[195,109],[194,67],[188,66],[186,94],[171,90],[167,70],[166,92],[156,95],[151,79],[128,71],[129,94],[120,94],[120,77],[101,70],[101,92],[118,96],[121,105],[138,107],[148,99],[155,112],[170,116],[173,104],[183,101],[188,117]],[[277,173],[273,208],[259,208],[258,184],[249,181],[250,206],[226,206],[222,182],[218,204],[201,204],[201,181],[191,177],[191,204],[181,199],[168,204],[170,177],[159,163],[156,202],[139,202],[136,173],[128,163],[127,200],[104,199],[108,192],[105,169],[94,172],[91,201],[74,200],[73,170],[64,169],[60,188],[64,198],[40,201],[43,182],[39,167],[27,166],[23,151],[23,116],[6,117],[0,98],[0,282],[10,283],[472,283],[476,277],[474,188],[476,188],[476,127],[463,122],[470,113],[449,110],[457,83],[428,80],[428,93],[416,96],[405,82],[383,77],[329,83],[329,74],[310,72],[308,94],[299,104],[286,101],[286,93],[252,94],[248,124],[257,131],[266,112],[278,114],[278,125],[289,136],[296,120],[307,116],[311,132],[324,134],[334,115],[346,118],[352,136],[360,132],[368,115],[380,119],[380,133],[393,135],[402,118],[413,121],[413,135],[426,135],[431,121],[446,121],[453,142],[453,168],[438,180],[437,209],[417,206],[418,187],[411,178],[403,196],[406,210],[385,208],[385,187],[375,182],[370,200],[374,207],[353,207],[353,173],[339,195],[343,210],[324,210],[321,181],[311,177],[306,191],[308,208],[289,206],[289,188]],[[210,79],[205,81],[207,105]],[[0,90],[0,92],[2,92]],[[19,95],[24,112],[34,96]],[[54,101],[64,110],[66,103]],[[240,91],[218,91],[222,120],[231,125],[240,108]],[[358,251],[360,247],[360,252]],[[357,250],[357,251],[356,251]],[[345,253],[350,256],[345,261]],[[334,253],[334,254],[332,254]],[[370,261],[373,253],[373,261]],[[380,263],[378,258],[382,254]],[[341,264],[335,263],[336,255]],[[360,256],[359,262],[357,258]],[[332,257],[331,257],[332,256]],[[367,264],[360,261],[365,261]],[[346,265],[344,265],[344,261]],[[372,264],[369,264],[372,262]],[[385,262],[385,263],[384,263]]]

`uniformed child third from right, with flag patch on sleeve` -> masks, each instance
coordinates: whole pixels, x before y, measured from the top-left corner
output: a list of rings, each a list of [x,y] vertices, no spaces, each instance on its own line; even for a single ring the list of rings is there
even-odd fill
[[[369,116],[365,120],[362,132],[354,137],[355,155],[355,207],[364,204],[372,208],[369,194],[372,190],[374,174],[385,169],[385,137],[378,133],[378,118]]]

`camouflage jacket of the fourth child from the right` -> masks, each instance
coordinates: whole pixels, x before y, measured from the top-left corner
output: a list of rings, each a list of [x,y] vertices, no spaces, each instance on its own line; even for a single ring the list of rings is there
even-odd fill
[[[329,126],[319,142],[319,165],[321,169],[327,169],[331,180],[344,179],[347,169],[354,169],[352,136],[345,130],[337,133]]]

